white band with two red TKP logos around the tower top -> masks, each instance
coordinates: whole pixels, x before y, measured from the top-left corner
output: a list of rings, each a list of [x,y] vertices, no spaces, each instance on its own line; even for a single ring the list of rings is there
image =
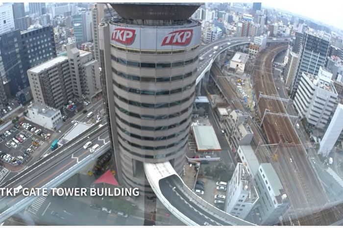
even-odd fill
[[[136,50],[180,50],[200,44],[201,27],[110,25],[111,44]]]

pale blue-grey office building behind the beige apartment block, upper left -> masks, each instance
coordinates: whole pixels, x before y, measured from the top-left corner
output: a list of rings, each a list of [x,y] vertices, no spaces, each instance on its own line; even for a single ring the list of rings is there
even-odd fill
[[[73,16],[73,29],[76,44],[92,40],[92,15],[91,11],[80,12]]]

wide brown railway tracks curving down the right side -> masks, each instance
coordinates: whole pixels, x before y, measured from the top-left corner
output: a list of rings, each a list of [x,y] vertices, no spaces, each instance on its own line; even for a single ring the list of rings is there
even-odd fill
[[[278,94],[272,75],[272,61],[286,48],[287,46],[274,46],[258,55],[252,73],[256,96],[259,96],[260,92],[264,95]],[[266,109],[273,113],[286,113],[282,101],[261,98],[258,102],[261,118]],[[328,218],[327,214],[321,215],[318,212],[326,203],[324,189],[306,157],[306,152],[290,119],[266,115],[262,124],[270,144],[281,143],[279,150],[275,152],[278,154],[279,162],[272,164],[284,185],[296,217],[305,218],[307,215],[316,215],[313,220],[299,219],[302,221],[301,225],[329,225],[330,221],[335,221],[337,218],[335,214]]]

